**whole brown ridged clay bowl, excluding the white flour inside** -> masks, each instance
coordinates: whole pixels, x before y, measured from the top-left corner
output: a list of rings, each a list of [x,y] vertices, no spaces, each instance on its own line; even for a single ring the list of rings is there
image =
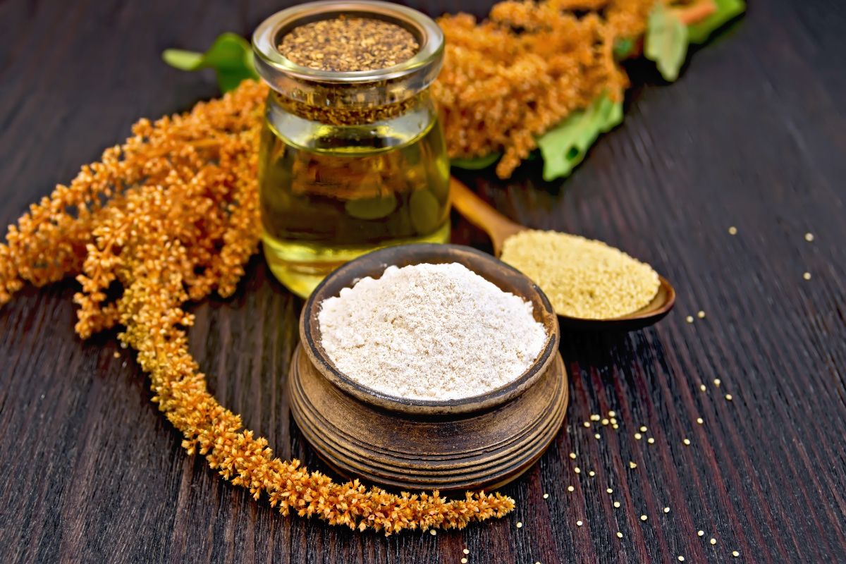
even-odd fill
[[[339,371],[321,347],[321,302],[387,266],[457,262],[534,306],[547,342],[523,375],[476,397],[392,397]],[[291,413],[317,454],[339,474],[401,490],[475,490],[506,484],[541,457],[568,403],[558,317],[529,278],[481,251],[448,244],[390,247],[361,256],[316,287],[299,321],[288,377]],[[479,343],[484,347],[485,343]]]

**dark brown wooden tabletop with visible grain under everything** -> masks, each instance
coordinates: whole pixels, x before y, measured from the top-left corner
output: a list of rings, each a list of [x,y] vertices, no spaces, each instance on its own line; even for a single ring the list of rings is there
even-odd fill
[[[215,95],[162,49],[248,34],[277,8],[0,3],[0,223],[136,118]],[[646,331],[563,335],[567,423],[504,488],[509,517],[385,538],[280,516],[186,456],[132,356],[113,356],[114,333],[74,336],[65,282],[0,309],[0,561],[453,563],[465,546],[472,563],[846,561],[844,30],[842,3],[755,3],[678,83],[633,64],[624,124],[566,182],[542,183],[537,162],[508,183],[462,175],[509,216],[606,240],[678,290]],[[453,238],[489,246],[459,217]],[[195,307],[191,346],[224,405],[283,457],[322,468],[282,393],[301,305],[256,257],[233,298]],[[621,429],[596,441],[582,422],[608,410]],[[634,439],[640,425],[654,444]]]

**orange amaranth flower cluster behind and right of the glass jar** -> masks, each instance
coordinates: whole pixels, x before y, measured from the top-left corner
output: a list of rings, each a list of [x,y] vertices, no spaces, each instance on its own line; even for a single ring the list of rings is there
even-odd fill
[[[443,70],[432,85],[449,156],[503,152],[508,178],[543,134],[607,91],[618,100],[628,79],[614,59],[618,39],[643,34],[661,0],[507,0],[476,23],[446,15]]]

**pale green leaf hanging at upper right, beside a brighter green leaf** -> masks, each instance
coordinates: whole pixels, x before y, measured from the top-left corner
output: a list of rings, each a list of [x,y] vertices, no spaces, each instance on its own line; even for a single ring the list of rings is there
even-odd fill
[[[657,3],[646,23],[643,53],[655,61],[658,72],[668,82],[678,79],[687,55],[687,26],[664,4]]]

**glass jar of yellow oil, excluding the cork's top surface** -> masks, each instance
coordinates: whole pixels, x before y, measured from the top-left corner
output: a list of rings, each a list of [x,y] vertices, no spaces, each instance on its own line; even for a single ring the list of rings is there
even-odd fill
[[[408,60],[336,72],[293,63],[290,30],[339,15],[409,30]],[[273,14],[253,35],[271,86],[261,136],[263,248],[273,275],[302,297],[329,272],[373,249],[449,239],[449,161],[429,94],[443,34],[414,9],[384,2],[315,2]]]

